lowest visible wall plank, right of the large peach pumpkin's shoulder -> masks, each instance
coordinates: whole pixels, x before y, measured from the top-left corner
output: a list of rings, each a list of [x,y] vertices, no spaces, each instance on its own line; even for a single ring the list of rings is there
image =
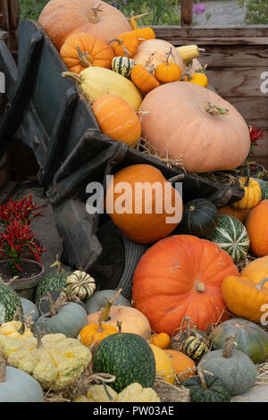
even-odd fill
[[[224,97],[230,102],[248,124],[262,130],[268,129],[267,97]]]

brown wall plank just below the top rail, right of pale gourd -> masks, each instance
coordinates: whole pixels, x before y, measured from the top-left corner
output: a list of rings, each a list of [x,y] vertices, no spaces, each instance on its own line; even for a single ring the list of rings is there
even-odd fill
[[[214,67],[266,67],[268,69],[268,45],[266,46],[206,46],[200,54],[202,63]]]

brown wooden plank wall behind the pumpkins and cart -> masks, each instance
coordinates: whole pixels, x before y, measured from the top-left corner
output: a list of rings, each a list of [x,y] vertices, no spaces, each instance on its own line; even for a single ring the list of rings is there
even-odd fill
[[[17,57],[17,28],[19,1],[0,0],[0,34],[6,33],[6,42]],[[207,64],[206,74],[219,95],[234,105],[248,124],[265,131],[261,147],[255,149],[252,160],[268,169],[268,26],[197,28],[192,26],[192,0],[180,0],[180,27],[154,27],[156,37],[174,46],[197,44],[205,48],[200,61]],[[266,82],[265,82],[266,80]],[[262,88],[263,87],[263,88]],[[17,149],[17,147],[16,147]],[[37,170],[29,151],[22,151],[28,161],[27,178]],[[21,150],[13,151],[13,161],[21,162]]]

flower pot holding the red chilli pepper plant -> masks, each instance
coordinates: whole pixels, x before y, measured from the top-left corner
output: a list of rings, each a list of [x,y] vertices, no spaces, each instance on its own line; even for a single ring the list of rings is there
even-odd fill
[[[14,280],[10,287],[15,290],[21,298],[27,298],[29,300],[33,300],[35,296],[35,291],[38,287],[38,282],[44,277],[45,268],[43,265],[40,265],[37,261],[30,260],[23,258],[21,261],[22,265],[35,265],[39,268],[38,273],[34,273],[33,275],[25,278],[19,278]],[[6,275],[4,275],[6,269],[6,262],[4,260],[0,261],[0,275],[4,276],[4,282],[11,281],[13,277],[6,279]]]

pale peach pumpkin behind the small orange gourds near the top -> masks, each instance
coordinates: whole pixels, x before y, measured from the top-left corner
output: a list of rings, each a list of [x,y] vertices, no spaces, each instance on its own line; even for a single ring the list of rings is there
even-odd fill
[[[163,39],[148,39],[147,41],[142,42],[138,46],[138,50],[132,59],[135,60],[137,64],[141,64],[151,70],[152,65],[156,67],[158,64],[165,63],[166,54],[172,48],[172,56],[170,59],[171,63],[176,63],[180,66],[180,71],[183,74],[185,71],[185,64],[183,59],[175,46],[172,46],[171,43],[164,41]]]

